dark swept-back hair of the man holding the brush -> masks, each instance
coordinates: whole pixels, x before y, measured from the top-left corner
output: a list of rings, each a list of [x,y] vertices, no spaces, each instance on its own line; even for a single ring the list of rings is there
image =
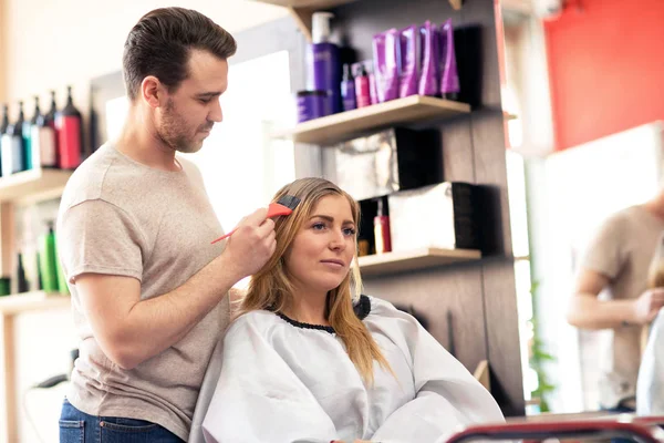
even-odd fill
[[[237,50],[232,35],[200,12],[160,8],[143,16],[124,47],[123,70],[127,95],[138,96],[143,79],[154,75],[169,92],[187,79],[193,49],[226,60]]]

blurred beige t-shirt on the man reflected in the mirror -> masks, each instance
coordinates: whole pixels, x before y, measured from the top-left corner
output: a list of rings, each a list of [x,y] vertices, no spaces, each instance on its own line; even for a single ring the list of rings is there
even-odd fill
[[[663,230],[664,220],[643,206],[631,206],[604,222],[581,262],[609,278],[601,299],[634,299],[647,289],[649,268]],[[612,329],[602,342],[599,391],[603,408],[614,408],[635,395],[641,330],[637,326]]]

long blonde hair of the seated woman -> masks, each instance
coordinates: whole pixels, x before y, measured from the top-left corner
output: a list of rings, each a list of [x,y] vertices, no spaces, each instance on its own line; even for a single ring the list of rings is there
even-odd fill
[[[357,228],[360,226],[360,205],[347,193],[326,179],[297,179],[283,186],[272,202],[278,202],[287,195],[298,197],[300,204],[291,215],[274,219],[277,249],[266,266],[252,276],[247,295],[241,300],[239,316],[259,309],[283,313],[292,307],[293,286],[286,270],[284,256],[321,198],[330,195],[345,197],[351,205],[353,223]],[[356,241],[355,237],[355,245]],[[353,309],[353,303],[359,300],[362,291],[356,254],[353,264],[351,272],[345,276],[341,285],[328,292],[325,313],[338,337],[345,344],[351,361],[363,379],[371,383],[374,360],[384,369],[392,370]]]

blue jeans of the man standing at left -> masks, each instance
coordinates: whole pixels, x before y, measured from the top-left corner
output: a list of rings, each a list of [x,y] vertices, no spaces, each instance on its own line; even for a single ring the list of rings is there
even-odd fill
[[[94,416],[66,399],[60,415],[60,443],[184,443],[165,427],[145,420]]]

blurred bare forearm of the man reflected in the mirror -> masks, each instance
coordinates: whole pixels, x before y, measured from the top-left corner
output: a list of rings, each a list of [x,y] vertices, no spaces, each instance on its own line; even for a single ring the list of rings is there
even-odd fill
[[[592,293],[577,293],[568,311],[568,322],[581,329],[615,329],[635,324],[633,300],[599,300]]]

